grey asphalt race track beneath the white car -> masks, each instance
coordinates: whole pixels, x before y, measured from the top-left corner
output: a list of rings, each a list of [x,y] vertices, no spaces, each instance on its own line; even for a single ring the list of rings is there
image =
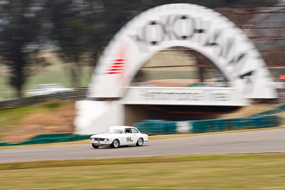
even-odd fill
[[[175,154],[238,154],[285,152],[285,128],[157,139],[142,147],[102,147],[90,144],[0,149],[0,163],[63,159],[153,157]]]

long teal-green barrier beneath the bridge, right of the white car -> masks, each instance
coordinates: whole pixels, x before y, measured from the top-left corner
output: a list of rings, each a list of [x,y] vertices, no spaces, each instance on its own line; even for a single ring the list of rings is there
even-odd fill
[[[238,117],[222,120],[197,120],[168,122],[165,120],[143,120],[135,123],[135,127],[147,134],[174,134],[180,132],[219,132],[226,130],[243,130],[264,127],[277,127],[281,118],[277,115],[264,115],[257,117]]]

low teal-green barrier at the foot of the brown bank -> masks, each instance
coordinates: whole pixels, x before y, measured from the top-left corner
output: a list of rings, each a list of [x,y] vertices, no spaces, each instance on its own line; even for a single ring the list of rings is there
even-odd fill
[[[10,143],[10,142],[0,142],[1,146],[14,146],[14,145],[24,145],[24,144],[45,144],[53,142],[70,142],[83,139],[89,139],[92,134],[40,134],[32,139],[25,140],[24,142],[19,143]]]

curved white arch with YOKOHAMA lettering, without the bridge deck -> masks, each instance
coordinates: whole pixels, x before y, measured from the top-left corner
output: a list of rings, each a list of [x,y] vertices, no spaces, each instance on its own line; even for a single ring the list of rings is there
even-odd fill
[[[90,82],[89,97],[123,97],[142,65],[173,46],[212,60],[244,98],[274,98],[269,70],[244,32],[218,12],[193,4],[149,9],[115,34]]]

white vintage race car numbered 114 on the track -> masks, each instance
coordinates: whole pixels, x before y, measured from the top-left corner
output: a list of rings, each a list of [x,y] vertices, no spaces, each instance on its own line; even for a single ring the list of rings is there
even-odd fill
[[[90,137],[92,147],[113,147],[118,148],[125,145],[142,146],[144,142],[148,141],[148,135],[142,134],[135,127],[129,126],[114,126],[110,127],[107,132],[103,134],[94,134]]]

